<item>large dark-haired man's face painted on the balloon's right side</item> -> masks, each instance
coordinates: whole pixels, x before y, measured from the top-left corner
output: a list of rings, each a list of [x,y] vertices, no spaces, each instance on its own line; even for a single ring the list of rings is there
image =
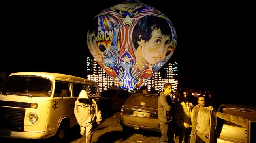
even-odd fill
[[[141,40],[141,55],[147,63],[156,64],[166,55],[167,49],[171,42],[170,35],[163,35],[160,29],[154,29],[151,38],[148,41]]]

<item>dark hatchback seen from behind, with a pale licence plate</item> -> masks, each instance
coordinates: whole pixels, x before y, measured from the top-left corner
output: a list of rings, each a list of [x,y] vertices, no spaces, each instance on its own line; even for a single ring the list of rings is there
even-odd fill
[[[159,132],[157,101],[157,94],[132,94],[121,109],[120,124],[123,131],[133,128]]]

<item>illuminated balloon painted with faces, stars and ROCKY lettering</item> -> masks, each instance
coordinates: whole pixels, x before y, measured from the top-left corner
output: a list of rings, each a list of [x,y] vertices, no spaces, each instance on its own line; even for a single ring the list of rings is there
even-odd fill
[[[171,58],[177,37],[166,15],[142,2],[126,1],[94,17],[87,45],[119,88],[135,90]]]

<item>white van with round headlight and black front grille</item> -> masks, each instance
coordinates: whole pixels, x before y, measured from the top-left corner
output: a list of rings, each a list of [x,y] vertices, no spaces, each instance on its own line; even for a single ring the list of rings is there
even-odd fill
[[[77,125],[74,106],[82,89],[100,97],[96,82],[59,73],[12,73],[0,88],[0,137],[64,139]]]

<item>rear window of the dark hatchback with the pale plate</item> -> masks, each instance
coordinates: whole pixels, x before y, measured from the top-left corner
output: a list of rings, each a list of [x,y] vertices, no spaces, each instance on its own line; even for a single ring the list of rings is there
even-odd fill
[[[128,106],[146,106],[151,108],[157,108],[158,96],[149,95],[136,95],[133,94],[126,101]]]

